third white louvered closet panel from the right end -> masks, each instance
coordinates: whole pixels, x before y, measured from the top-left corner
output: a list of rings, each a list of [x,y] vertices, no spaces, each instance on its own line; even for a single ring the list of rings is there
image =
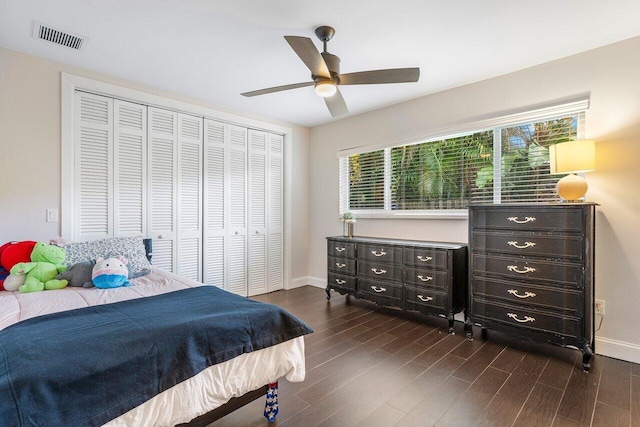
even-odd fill
[[[247,296],[247,129],[228,125],[227,290]]]

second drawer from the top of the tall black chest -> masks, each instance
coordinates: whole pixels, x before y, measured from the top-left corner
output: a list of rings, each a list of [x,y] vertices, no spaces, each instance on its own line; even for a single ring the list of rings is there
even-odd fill
[[[581,236],[559,233],[500,233],[473,231],[472,245],[483,252],[537,255],[581,260],[584,241]]]

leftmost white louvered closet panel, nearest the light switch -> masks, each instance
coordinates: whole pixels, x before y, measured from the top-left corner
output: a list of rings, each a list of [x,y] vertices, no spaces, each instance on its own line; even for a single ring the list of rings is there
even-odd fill
[[[113,100],[75,94],[74,239],[113,233]]]

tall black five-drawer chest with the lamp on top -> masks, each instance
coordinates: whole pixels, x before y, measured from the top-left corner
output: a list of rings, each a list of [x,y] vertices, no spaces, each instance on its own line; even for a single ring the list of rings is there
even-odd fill
[[[594,340],[594,204],[469,208],[470,324],[578,348]]]

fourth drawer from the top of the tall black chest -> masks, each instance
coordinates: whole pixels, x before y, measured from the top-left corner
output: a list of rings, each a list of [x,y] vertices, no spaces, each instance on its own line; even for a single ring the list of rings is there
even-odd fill
[[[486,298],[492,301],[502,300],[512,305],[531,305],[573,315],[581,314],[584,311],[584,297],[579,290],[486,277],[474,277],[471,287],[476,298]]]

